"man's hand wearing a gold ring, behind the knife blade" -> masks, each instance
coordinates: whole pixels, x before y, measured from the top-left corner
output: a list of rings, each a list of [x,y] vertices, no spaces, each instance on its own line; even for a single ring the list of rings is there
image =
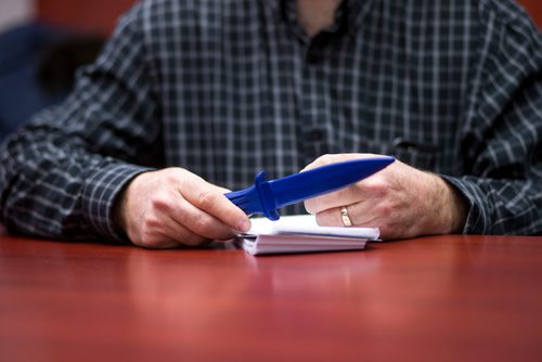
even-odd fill
[[[370,154],[325,155],[306,167],[375,157]],[[305,202],[320,225],[343,225],[346,206],[354,227],[378,227],[385,240],[449,234],[463,230],[466,199],[440,177],[399,160],[348,188]]]

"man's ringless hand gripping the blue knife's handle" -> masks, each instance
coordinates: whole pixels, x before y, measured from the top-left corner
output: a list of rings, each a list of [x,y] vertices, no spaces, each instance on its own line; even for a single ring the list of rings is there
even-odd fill
[[[250,221],[225,192],[182,168],[141,173],[120,195],[115,221],[133,244],[149,248],[228,240]]]

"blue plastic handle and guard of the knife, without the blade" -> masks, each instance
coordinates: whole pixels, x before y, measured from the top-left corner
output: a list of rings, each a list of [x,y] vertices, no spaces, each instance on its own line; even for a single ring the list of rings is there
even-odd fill
[[[279,211],[276,211],[276,199],[267,180],[266,171],[260,171],[256,176],[253,186],[229,192],[225,194],[225,197],[247,215],[262,212],[268,219],[273,221],[279,220],[281,217]]]

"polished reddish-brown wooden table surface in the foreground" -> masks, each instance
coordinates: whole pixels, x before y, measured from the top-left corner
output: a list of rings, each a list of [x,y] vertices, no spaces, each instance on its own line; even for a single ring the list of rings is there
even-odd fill
[[[542,237],[253,257],[0,236],[1,361],[542,361]]]

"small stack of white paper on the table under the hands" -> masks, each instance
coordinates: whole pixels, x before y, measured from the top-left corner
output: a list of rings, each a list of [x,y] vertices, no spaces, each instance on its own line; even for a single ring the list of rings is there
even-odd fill
[[[364,249],[367,241],[379,236],[378,228],[319,227],[311,215],[251,222],[253,228],[236,240],[251,255]]]

